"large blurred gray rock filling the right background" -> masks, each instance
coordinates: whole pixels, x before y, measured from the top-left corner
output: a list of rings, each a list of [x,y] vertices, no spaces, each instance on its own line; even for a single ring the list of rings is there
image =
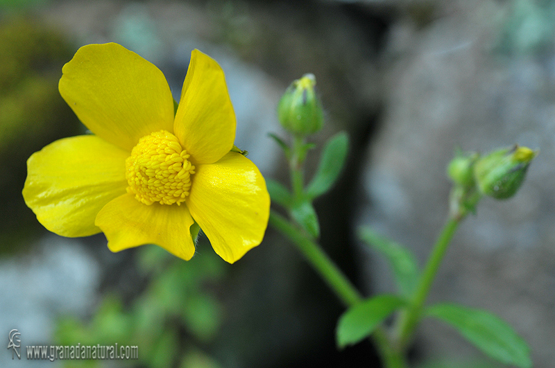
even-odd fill
[[[502,42],[521,17],[512,5],[459,2],[456,12],[427,28],[411,21],[393,27],[383,128],[365,170],[371,205],[360,222],[408,245],[423,265],[447,216],[445,168],[454,147],[483,153],[514,143],[539,148],[514,198],[486,198],[463,222],[429,302],[497,313],[529,342],[534,367],[552,367],[555,54],[541,42],[525,53]],[[391,290],[384,262],[362,254],[373,291]],[[478,354],[438,324],[421,328],[416,343],[425,357]]]

